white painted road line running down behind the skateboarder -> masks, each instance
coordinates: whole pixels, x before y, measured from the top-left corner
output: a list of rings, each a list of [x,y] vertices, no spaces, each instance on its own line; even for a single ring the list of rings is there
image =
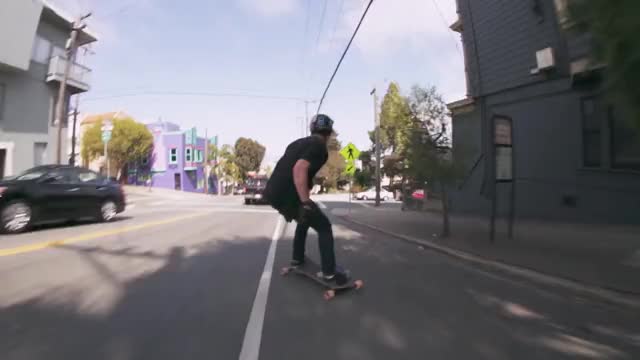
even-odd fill
[[[273,262],[276,257],[276,246],[282,237],[285,228],[284,218],[278,217],[278,223],[271,237],[271,246],[267,254],[267,261],[264,263],[262,277],[258,284],[258,291],[253,300],[251,315],[244,332],[242,350],[240,350],[239,360],[258,360],[260,356],[260,341],[262,340],[262,326],[264,325],[264,314],[267,309],[267,298],[269,297],[269,285],[271,284],[271,274],[273,273]]]

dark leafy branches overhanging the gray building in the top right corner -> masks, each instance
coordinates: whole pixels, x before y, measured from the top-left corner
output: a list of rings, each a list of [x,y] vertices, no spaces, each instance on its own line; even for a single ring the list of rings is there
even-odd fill
[[[640,127],[640,1],[573,1],[569,17],[593,37],[594,62],[607,65],[607,85]]]

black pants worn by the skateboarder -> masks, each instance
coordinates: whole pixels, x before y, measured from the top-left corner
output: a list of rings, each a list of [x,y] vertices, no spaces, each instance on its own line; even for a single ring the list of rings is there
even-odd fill
[[[293,238],[293,259],[304,261],[307,232],[312,228],[318,233],[318,246],[320,247],[320,263],[325,275],[336,272],[336,256],[333,250],[333,229],[329,218],[320,210],[315,209],[304,224],[298,223],[296,234]]]

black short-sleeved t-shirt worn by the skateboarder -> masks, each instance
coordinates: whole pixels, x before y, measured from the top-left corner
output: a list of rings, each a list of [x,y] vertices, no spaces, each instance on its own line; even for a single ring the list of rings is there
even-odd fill
[[[325,142],[317,136],[298,139],[289,146],[278,163],[267,183],[265,194],[274,205],[300,202],[296,186],[293,182],[293,167],[300,159],[307,160],[309,166],[309,189],[313,186],[313,178],[322,168],[329,153]]]

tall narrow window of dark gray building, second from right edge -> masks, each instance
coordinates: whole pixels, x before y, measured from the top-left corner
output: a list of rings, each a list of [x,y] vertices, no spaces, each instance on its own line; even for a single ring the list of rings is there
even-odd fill
[[[596,97],[582,99],[582,146],[584,166],[602,164],[602,116]]]

